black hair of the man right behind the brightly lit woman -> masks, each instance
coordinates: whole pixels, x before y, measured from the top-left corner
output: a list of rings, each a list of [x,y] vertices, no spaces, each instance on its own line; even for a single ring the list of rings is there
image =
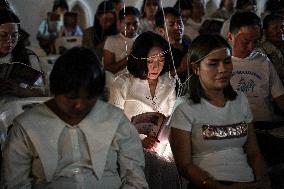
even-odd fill
[[[156,27],[163,28],[165,26],[165,17],[167,15],[173,15],[175,17],[181,17],[180,13],[177,9],[173,7],[165,7],[163,10],[159,10],[157,14],[155,15],[155,23]]]

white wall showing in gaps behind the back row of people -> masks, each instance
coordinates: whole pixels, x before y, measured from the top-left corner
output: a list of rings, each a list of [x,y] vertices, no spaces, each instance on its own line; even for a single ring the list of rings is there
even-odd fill
[[[38,46],[36,41],[36,33],[40,21],[46,17],[46,13],[51,11],[53,0],[8,0],[13,6],[16,14],[21,19],[22,27],[31,34],[30,40],[32,46]],[[98,4],[102,0],[67,0],[72,7],[79,1],[82,8],[86,10],[87,23],[89,26],[93,23],[93,17]],[[219,5],[220,0],[205,0],[212,1],[213,4]],[[258,0],[259,10],[263,10],[263,5],[266,0]],[[126,6],[135,6],[140,9],[143,0],[125,0]],[[176,0],[162,0],[163,7],[172,6]]]

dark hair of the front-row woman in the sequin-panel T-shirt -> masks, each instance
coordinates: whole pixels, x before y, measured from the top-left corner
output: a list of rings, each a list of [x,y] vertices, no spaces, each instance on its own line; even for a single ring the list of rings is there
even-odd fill
[[[223,47],[232,51],[231,46],[220,35],[199,35],[189,46],[188,63],[191,65],[193,63],[200,65],[200,62],[212,50]],[[189,66],[189,73],[191,74],[189,84],[189,99],[191,99],[194,103],[200,103],[201,97],[208,99],[201,86],[199,76],[194,73],[192,66]],[[224,88],[223,93],[225,98],[228,100],[236,99],[237,93],[234,91],[231,84]]]

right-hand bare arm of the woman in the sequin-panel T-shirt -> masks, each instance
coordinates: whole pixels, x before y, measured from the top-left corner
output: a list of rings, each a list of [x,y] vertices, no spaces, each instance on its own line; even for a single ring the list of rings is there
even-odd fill
[[[253,169],[255,180],[261,183],[261,188],[270,188],[270,179],[266,163],[261,155],[254,126],[251,123],[248,125],[248,138],[244,149],[247,153],[248,163]]]

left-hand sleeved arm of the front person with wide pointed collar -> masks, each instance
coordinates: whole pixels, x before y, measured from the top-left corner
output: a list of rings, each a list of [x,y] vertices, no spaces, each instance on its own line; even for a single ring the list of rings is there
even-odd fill
[[[1,186],[8,189],[32,188],[31,148],[27,134],[14,123],[4,146]]]

